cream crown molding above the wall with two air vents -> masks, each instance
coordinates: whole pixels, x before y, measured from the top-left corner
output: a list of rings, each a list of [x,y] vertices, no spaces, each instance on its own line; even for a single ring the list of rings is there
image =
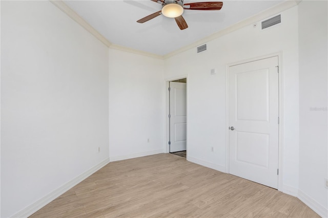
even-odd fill
[[[182,52],[188,51],[190,49],[196,48],[199,45],[202,45],[204,43],[212,41],[212,40],[214,40],[218,37],[221,37],[221,36],[226,35],[228,33],[234,32],[234,31],[236,31],[238,29],[241,29],[243,27],[246,27],[248,25],[252,25],[252,24],[258,22],[259,20],[265,19],[267,17],[273,16],[275,14],[278,14],[278,13],[282,12],[282,11],[290,9],[294,6],[297,6],[299,4],[299,2],[300,1],[285,1],[283,3],[280,3],[280,4],[278,4],[278,5],[276,5],[272,8],[269,8],[265,11],[259,12],[259,13],[255,14],[255,15],[249,17],[249,18],[246,18],[246,19],[234,24],[234,25],[231,25],[231,26],[227,27],[226,29],[220,30],[220,31],[218,31],[218,32],[216,32],[212,35],[209,35],[209,36],[204,37],[200,40],[197,40],[197,41],[195,41],[194,43],[191,43],[188,46],[182,47],[178,50],[175,50],[171,53],[168,53],[168,54],[164,55],[163,58],[164,59],[170,58],[170,57],[172,57],[174,55],[177,55],[179,53],[182,53]]]

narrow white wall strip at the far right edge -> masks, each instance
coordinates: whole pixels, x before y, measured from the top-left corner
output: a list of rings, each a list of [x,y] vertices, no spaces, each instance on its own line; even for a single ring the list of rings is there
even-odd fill
[[[299,6],[299,197],[328,216],[326,1]],[[312,202],[315,201],[316,203]]]

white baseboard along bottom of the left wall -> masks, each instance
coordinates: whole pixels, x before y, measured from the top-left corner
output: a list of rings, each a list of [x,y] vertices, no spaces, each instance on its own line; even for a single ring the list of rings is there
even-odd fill
[[[99,164],[95,165],[94,167],[90,168],[86,172],[82,173],[81,175],[77,176],[76,178],[72,179],[68,183],[60,186],[56,190],[52,191],[51,193],[47,194],[42,199],[34,202],[30,206],[24,208],[23,210],[17,212],[16,214],[12,215],[11,217],[28,217],[38,211],[39,209],[43,208],[56,198],[58,198],[61,194],[64,194],[66,191],[77,185],[78,183],[85,180],[87,177],[91,176],[94,172],[99,170],[101,167],[104,167],[106,164],[109,163],[109,158],[104,161],[101,161]]]

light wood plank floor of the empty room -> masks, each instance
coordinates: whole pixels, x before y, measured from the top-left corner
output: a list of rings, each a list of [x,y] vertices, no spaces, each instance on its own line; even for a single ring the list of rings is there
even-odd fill
[[[297,198],[172,155],[111,162],[30,217],[319,217]]]

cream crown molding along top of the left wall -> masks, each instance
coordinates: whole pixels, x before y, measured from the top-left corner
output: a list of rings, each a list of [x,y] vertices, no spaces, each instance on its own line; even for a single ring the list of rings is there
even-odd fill
[[[99,41],[103,42],[105,46],[110,47],[112,43],[108,41],[103,35],[101,35],[97,30],[95,30],[85,19],[68,7],[63,1],[60,0],[49,0],[61,11],[66,13],[69,17],[76,21],[79,25],[85,28],[89,33],[96,37]]]

